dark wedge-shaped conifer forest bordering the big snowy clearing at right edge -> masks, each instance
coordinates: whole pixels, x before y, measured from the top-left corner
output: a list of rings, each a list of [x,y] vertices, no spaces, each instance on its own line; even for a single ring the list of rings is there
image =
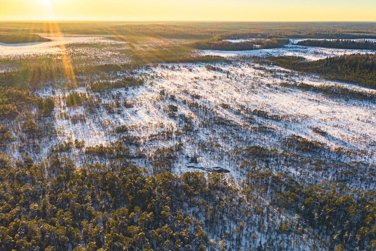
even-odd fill
[[[376,89],[376,54],[351,54],[316,61],[306,61],[301,57],[281,56],[269,57],[266,62],[295,71],[320,74],[330,80],[356,83]]]

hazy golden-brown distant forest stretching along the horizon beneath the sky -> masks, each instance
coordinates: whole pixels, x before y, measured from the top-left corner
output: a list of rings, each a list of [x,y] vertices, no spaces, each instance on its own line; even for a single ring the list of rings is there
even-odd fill
[[[57,22],[63,34],[117,35],[178,39],[376,38],[375,24],[320,22]],[[52,26],[54,27],[54,26]],[[0,22],[0,32],[45,33],[43,22]]]

